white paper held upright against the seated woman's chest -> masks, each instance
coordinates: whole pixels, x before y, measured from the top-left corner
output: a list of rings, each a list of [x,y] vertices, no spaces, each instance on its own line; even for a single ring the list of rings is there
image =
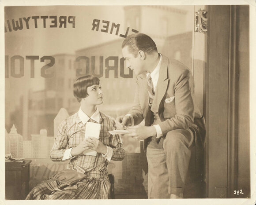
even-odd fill
[[[88,137],[95,137],[99,139],[100,132],[101,132],[101,124],[94,123],[94,122],[87,122],[85,125],[84,140],[87,139]],[[96,156],[97,152],[94,150],[86,150],[86,151],[83,151],[83,154]]]

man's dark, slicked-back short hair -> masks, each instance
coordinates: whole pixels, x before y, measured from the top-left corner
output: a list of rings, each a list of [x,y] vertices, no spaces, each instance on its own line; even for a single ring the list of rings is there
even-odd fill
[[[148,54],[158,52],[154,40],[144,33],[133,33],[127,36],[123,41],[122,48],[125,46],[128,46],[129,51],[135,58],[138,55],[138,51],[143,51]]]

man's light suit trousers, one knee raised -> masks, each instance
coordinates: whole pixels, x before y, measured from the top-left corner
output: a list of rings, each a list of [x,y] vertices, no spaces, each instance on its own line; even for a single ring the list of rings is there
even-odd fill
[[[154,118],[152,125],[160,120]],[[148,198],[170,198],[170,194],[183,193],[193,139],[189,128],[172,130],[160,140],[151,138],[147,146]]]

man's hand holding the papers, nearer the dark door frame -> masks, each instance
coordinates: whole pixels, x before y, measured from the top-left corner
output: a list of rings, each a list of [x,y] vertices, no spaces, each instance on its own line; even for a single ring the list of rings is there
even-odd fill
[[[124,134],[124,137],[132,137],[137,140],[147,139],[151,136],[156,136],[156,129],[154,126],[147,127],[147,126],[139,126],[139,127],[131,127],[127,129],[132,133]]]

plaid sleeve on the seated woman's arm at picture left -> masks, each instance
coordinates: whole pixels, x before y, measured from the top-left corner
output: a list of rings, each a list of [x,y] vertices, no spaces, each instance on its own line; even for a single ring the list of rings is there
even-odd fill
[[[52,161],[62,161],[68,145],[67,121],[64,120],[58,127],[58,133],[54,139],[53,148],[50,153]]]

